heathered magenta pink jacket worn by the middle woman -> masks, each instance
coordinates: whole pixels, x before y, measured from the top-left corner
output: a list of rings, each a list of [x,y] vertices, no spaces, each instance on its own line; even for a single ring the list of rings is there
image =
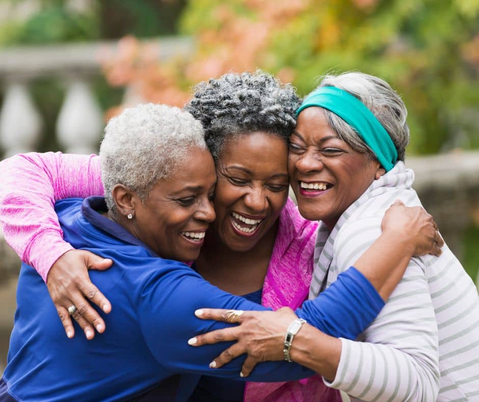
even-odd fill
[[[0,221],[5,239],[22,261],[46,282],[50,267],[73,247],[62,238],[56,200],[103,195],[100,160],[91,155],[23,154],[0,162]],[[264,280],[262,305],[274,310],[299,307],[308,296],[316,222],[288,199]],[[332,401],[339,392],[321,376],[287,383],[247,383],[245,401]]]

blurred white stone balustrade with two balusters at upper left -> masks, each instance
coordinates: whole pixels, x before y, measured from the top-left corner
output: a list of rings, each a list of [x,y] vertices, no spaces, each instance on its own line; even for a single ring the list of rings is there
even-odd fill
[[[163,38],[145,43],[150,48],[157,48],[159,60],[184,57],[193,46],[189,38]],[[29,93],[29,84],[45,77],[55,77],[65,83],[65,97],[56,122],[58,143],[65,152],[97,152],[104,121],[103,111],[90,88],[90,79],[101,71],[101,54],[114,52],[117,45],[118,42],[95,42],[0,51],[3,87],[0,147],[3,156],[35,150],[45,134],[42,133],[42,116]],[[129,104],[131,93],[125,91]],[[140,99],[137,97],[136,101]]]

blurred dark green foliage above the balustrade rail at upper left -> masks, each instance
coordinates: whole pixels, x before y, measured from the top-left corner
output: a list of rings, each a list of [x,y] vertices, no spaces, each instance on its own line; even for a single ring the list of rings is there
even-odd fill
[[[19,0],[1,0],[12,8]],[[125,35],[172,35],[184,1],[37,0],[26,19],[0,24],[0,45],[118,39]],[[84,3],[83,5],[81,3]]]

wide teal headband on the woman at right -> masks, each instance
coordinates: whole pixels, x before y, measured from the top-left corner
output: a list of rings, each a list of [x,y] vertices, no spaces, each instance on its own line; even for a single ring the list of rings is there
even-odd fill
[[[306,96],[296,111],[296,116],[311,106],[330,110],[341,117],[372,149],[386,171],[394,167],[397,150],[391,137],[375,115],[358,98],[336,87],[321,87]]]

